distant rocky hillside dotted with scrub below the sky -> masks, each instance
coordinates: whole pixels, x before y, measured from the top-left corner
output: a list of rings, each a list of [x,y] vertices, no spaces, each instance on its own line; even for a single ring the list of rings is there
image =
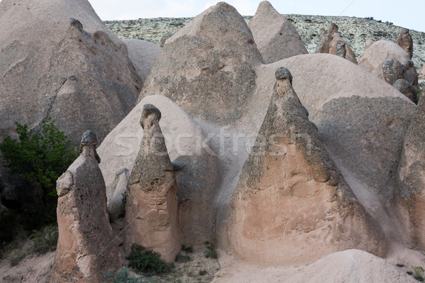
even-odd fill
[[[357,59],[361,57],[365,39],[373,41],[391,40],[395,42],[402,27],[375,21],[370,18],[283,15],[288,19],[302,38],[308,52],[314,53],[319,45],[320,31],[327,30],[331,23],[339,25],[339,33],[351,45]],[[244,16],[246,22],[251,16]],[[183,28],[192,18],[140,18],[131,21],[106,21],[105,24],[120,38],[137,38],[159,45],[161,37],[166,33],[175,33]],[[425,33],[410,30],[414,42],[413,62],[418,71],[425,63]]]

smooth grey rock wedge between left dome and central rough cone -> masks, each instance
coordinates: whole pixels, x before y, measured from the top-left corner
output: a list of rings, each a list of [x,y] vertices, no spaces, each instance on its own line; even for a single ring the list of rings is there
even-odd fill
[[[162,48],[146,40],[125,39],[123,42],[140,81],[145,81]]]

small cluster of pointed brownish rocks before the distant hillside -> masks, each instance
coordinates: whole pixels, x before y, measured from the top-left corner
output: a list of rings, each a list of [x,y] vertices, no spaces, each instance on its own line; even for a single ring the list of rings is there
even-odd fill
[[[331,23],[331,27],[326,32],[323,31],[322,41],[317,47],[316,53],[334,54],[357,64],[356,54],[348,46],[348,43],[339,35],[338,25]]]

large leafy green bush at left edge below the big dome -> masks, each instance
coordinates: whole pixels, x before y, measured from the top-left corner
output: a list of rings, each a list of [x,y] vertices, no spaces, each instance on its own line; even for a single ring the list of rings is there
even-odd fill
[[[23,181],[21,185],[15,181],[16,190],[23,195],[40,195],[39,199],[27,200],[21,211],[24,228],[30,231],[56,221],[55,183],[78,154],[50,118],[42,122],[38,132],[15,124],[18,139],[4,137],[0,151],[11,175]]]

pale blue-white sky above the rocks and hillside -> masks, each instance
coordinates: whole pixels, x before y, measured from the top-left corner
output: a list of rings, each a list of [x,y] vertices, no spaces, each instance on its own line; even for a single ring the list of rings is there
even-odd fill
[[[107,20],[193,17],[213,6],[211,0],[89,0]],[[243,16],[254,16],[260,0],[228,0]],[[269,0],[279,13],[321,16],[373,17],[425,32],[425,0]]]

